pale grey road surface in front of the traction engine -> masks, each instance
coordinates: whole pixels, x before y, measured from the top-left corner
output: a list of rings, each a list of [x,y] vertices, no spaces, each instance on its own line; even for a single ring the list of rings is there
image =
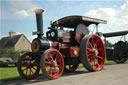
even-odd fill
[[[104,70],[99,72],[88,72],[79,69],[74,73],[64,73],[62,77],[55,80],[47,80],[42,76],[27,81],[17,80],[3,84],[9,85],[128,85],[128,62],[125,64],[105,65]],[[3,85],[2,84],[2,85]]]

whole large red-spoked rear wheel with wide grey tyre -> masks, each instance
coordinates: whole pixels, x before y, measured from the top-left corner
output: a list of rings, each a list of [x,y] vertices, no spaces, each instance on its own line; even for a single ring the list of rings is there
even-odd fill
[[[80,44],[80,57],[84,67],[89,71],[101,70],[105,63],[105,48],[97,35],[85,36]]]

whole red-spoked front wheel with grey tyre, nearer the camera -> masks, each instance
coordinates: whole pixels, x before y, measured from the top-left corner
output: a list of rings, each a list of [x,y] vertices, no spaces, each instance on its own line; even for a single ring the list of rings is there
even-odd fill
[[[44,76],[48,79],[56,79],[63,73],[63,57],[56,49],[46,50],[41,56],[40,65]]]

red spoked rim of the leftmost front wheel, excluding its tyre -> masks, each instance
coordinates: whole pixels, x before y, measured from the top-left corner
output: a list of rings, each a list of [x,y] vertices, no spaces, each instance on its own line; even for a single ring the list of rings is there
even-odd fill
[[[39,63],[36,59],[32,59],[32,53],[26,53],[23,55],[20,62],[20,70],[28,79],[32,79],[38,75],[40,70]]]

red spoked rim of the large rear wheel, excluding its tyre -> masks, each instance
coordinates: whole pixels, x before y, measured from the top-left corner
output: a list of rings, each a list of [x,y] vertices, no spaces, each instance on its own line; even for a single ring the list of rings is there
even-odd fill
[[[95,70],[102,69],[106,54],[104,44],[97,35],[92,35],[88,38],[86,51],[91,67]]]

